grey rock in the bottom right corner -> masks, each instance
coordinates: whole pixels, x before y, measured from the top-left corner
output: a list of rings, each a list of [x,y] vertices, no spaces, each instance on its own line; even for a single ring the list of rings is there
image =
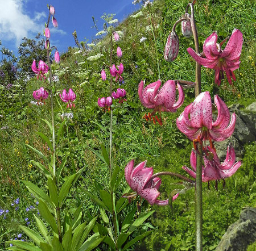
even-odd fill
[[[216,251],[246,251],[256,240],[256,208],[246,207],[240,219],[230,225]]]

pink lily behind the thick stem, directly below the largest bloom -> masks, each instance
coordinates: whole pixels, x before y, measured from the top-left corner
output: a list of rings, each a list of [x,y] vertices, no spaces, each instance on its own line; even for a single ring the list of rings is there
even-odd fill
[[[229,144],[226,151],[226,159],[221,164],[215,150],[211,147],[206,147],[204,149],[206,156],[204,156],[204,166],[202,167],[202,181],[209,182],[213,180],[225,179],[236,173],[237,169],[242,165],[241,161],[236,162],[236,153],[234,148]],[[192,150],[190,156],[190,163],[193,170],[189,169],[187,166],[182,168],[187,171],[189,175],[196,178],[196,152]]]

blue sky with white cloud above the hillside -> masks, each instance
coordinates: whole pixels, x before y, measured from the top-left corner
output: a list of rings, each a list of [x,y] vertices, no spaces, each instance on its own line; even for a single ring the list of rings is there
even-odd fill
[[[44,22],[48,17],[47,3],[55,7],[58,28],[50,23],[51,45],[60,52],[74,47],[72,32],[76,30],[79,41],[84,37],[92,40],[97,33],[92,16],[97,20],[99,30],[104,21],[102,14],[114,13],[119,21],[138,10],[140,5],[133,5],[133,0],[0,0],[0,40],[2,45],[13,50],[18,56],[17,48],[24,36],[33,39],[38,32],[43,33]],[[95,38],[95,37],[94,37]]]

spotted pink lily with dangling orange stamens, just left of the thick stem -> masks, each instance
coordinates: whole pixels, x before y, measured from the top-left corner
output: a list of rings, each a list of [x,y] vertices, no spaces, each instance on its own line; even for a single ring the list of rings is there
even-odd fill
[[[154,110],[148,115],[145,114],[143,118],[147,121],[148,119],[151,121],[151,116],[154,115],[157,111],[160,114],[160,119],[158,116],[152,117],[153,123],[155,124],[155,119],[158,121],[160,125],[162,125],[161,112],[176,112],[177,108],[179,108],[184,101],[185,95],[183,88],[179,83],[177,83],[177,90],[179,91],[179,99],[175,103],[176,97],[176,85],[174,80],[168,80],[162,88],[159,90],[161,86],[161,81],[158,80],[156,82],[150,83],[144,89],[144,82],[141,81],[139,83],[139,99],[143,106],[147,108],[153,108]]]

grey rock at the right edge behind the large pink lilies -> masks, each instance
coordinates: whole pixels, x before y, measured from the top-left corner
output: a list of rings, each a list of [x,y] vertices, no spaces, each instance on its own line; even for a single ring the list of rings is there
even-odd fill
[[[252,103],[256,105],[256,102]],[[256,140],[256,114],[251,111],[254,109],[254,106],[246,107],[245,111],[241,111],[241,104],[232,104],[229,107],[230,115],[235,112],[237,116],[236,120],[236,128],[234,129],[234,133],[227,140],[214,143],[218,157],[221,161],[226,158],[226,149],[228,148],[229,143],[231,143],[236,151],[237,160],[242,158],[244,149],[243,145],[246,143],[250,143]]]

